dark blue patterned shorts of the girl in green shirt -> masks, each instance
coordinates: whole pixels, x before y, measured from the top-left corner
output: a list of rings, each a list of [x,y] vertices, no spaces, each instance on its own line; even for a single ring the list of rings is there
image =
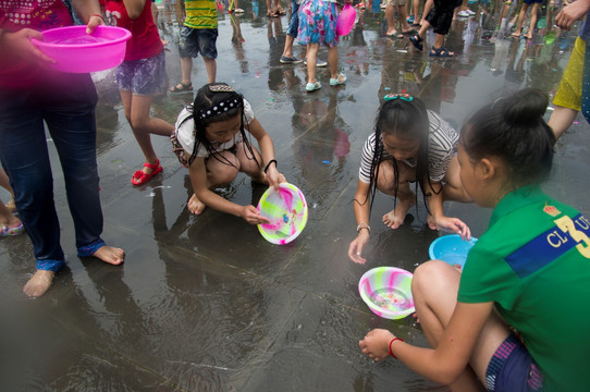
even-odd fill
[[[543,390],[543,375],[515,335],[508,335],[492,356],[485,370],[485,387],[490,392]]]

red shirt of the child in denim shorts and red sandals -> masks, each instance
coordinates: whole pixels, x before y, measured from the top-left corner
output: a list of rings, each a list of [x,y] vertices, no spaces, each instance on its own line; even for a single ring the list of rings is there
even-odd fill
[[[107,1],[107,24],[126,28],[132,38],[127,41],[125,60],[149,59],[162,51],[158,27],[151,15],[151,0],[146,0],[142,14],[132,20],[122,0]]]

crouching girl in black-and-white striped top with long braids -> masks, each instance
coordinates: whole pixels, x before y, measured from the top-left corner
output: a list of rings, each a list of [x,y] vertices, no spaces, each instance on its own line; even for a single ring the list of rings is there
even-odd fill
[[[376,131],[362,148],[354,200],[358,235],[348,247],[353,261],[366,261],[361,252],[369,242],[369,216],[377,189],[395,197],[383,223],[397,229],[416,204],[417,193],[410,189],[414,182],[423,195],[430,229],[470,237],[467,224],[443,213],[443,200],[469,200],[458,176],[458,133],[418,98],[407,94],[385,97]]]

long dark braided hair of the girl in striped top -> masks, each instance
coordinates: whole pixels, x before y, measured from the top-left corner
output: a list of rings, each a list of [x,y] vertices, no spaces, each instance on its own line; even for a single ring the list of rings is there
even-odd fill
[[[371,161],[369,182],[371,194],[370,210],[372,210],[374,195],[377,193],[377,179],[379,179],[380,163],[386,159],[390,159],[393,164],[395,177],[394,203],[396,204],[397,200],[397,189],[400,187],[398,162],[394,157],[389,155],[385,156],[383,134],[395,135],[396,137],[405,139],[420,140],[420,147],[416,158],[416,191],[418,191],[418,186],[420,186],[425,206],[427,210],[429,210],[427,197],[431,195],[430,193],[425,193],[425,180],[430,183],[430,177],[428,175],[429,126],[428,111],[422,101],[416,97],[411,97],[410,100],[397,98],[385,101],[381,106],[374,126],[374,155]],[[384,158],[384,156],[386,158]],[[441,189],[435,192],[439,193]],[[418,200],[418,192],[416,192],[416,200]],[[367,200],[362,204],[365,203],[367,203]]]

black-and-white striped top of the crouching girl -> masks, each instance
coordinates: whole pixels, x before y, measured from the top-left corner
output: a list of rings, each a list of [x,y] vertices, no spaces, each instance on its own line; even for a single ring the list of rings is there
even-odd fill
[[[446,168],[451,158],[456,154],[456,146],[459,140],[459,134],[451,124],[441,119],[439,114],[432,110],[428,110],[429,125],[429,146],[428,146],[428,175],[430,181],[440,182],[444,179]],[[374,156],[374,138],[372,133],[362,147],[362,156],[360,159],[360,169],[358,170],[358,179],[366,184],[370,183],[371,162]],[[383,142],[381,142],[383,143]],[[391,159],[392,156],[383,150],[381,161]],[[404,163],[414,168],[416,160],[404,160]]]

